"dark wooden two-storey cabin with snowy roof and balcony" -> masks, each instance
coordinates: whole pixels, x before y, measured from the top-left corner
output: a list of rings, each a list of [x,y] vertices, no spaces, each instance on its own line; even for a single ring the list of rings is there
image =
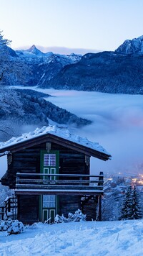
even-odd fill
[[[101,219],[103,173],[91,175],[90,157],[111,155],[98,143],[49,126],[1,142],[4,154],[8,170],[1,183],[14,189],[20,221],[52,222],[55,214],[81,208],[87,220]]]

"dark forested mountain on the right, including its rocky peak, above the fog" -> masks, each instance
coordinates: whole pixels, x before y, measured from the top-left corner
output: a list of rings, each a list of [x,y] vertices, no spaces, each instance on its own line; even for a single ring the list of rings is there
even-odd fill
[[[114,52],[88,53],[78,63],[66,65],[41,87],[143,93],[143,36],[125,41]]]

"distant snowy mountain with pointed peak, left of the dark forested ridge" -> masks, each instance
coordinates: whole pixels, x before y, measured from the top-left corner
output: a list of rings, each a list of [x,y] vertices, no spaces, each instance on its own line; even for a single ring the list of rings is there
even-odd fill
[[[25,86],[36,86],[45,81],[49,81],[56,76],[65,65],[77,63],[81,60],[82,55],[59,55],[53,52],[41,52],[32,45],[27,50],[16,50],[16,55],[19,56],[21,62],[26,62],[31,68],[31,75],[29,74]]]

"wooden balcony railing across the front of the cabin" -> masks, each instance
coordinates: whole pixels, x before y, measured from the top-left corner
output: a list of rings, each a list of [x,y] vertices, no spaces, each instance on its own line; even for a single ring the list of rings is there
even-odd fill
[[[16,194],[103,194],[100,175],[17,173]]]

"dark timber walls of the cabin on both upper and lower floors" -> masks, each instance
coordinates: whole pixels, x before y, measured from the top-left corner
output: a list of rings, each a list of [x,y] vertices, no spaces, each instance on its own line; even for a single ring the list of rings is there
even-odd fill
[[[16,173],[40,173],[40,151],[46,150],[46,142],[15,152],[9,157],[8,171],[2,184],[15,188]],[[89,161],[85,155],[61,145],[51,143],[51,150],[59,150],[59,173],[89,174]],[[59,196],[57,214],[67,216],[81,208],[81,196]],[[89,206],[96,211],[95,204]],[[87,206],[88,208],[88,206]],[[85,209],[84,209],[85,210]],[[85,210],[86,214],[88,209]],[[91,213],[91,210],[89,210]],[[39,220],[39,196],[18,196],[18,219],[31,224]],[[91,218],[90,218],[91,219]]]

